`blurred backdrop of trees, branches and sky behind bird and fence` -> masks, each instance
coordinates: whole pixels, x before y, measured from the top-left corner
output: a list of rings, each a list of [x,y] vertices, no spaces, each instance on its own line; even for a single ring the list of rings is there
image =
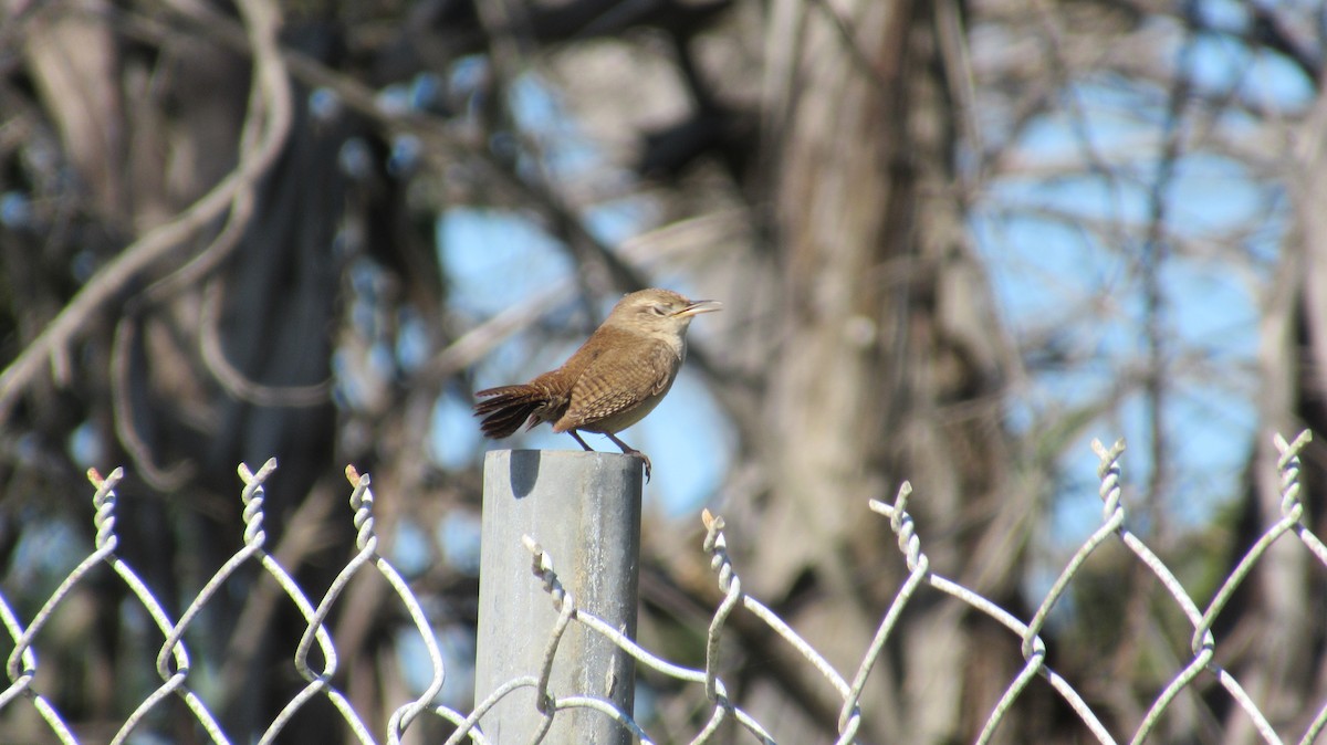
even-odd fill
[[[859,505],[904,479],[936,569],[1019,610],[1085,532],[1075,505],[1097,509],[1091,436],[1131,439],[1140,530],[1201,589],[1277,514],[1267,432],[1327,431],[1316,3],[0,13],[7,591],[84,555],[64,550],[90,544],[80,473],[123,463],[122,553],[192,597],[240,542],[236,461],[269,455],[269,532],[325,586],[350,546],[332,513],[354,463],[390,494],[380,530],[464,659],[471,391],[555,365],[650,285],[727,304],[694,327],[694,375],[630,439],[662,476],[642,636],[673,658],[698,654],[717,598],[679,550],[698,544],[701,502],[742,526],[750,589],[851,668],[902,577]],[[1322,468],[1311,445],[1319,536]],[[1273,724],[1302,730],[1327,697],[1327,587],[1291,549],[1216,632]],[[1188,634],[1123,557],[1093,557],[1091,575],[1052,664],[1125,730]],[[381,587],[356,591],[336,619],[338,684],[385,718],[409,677],[402,619]],[[159,640],[114,610],[113,582],[80,593],[48,647],[64,711],[94,730],[139,700],[125,681]],[[299,622],[261,597],[236,586],[192,640],[239,738],[296,685]],[[863,740],[971,740],[1016,644],[943,603],[902,623]],[[833,699],[767,642],[734,651],[738,695],[782,740],[816,741]],[[690,732],[695,693],[645,683],[653,725]],[[1210,683],[1184,696],[1165,741],[1249,740]],[[187,721],[153,726],[187,742]],[[288,733],[344,734],[316,709]],[[1002,729],[1083,734],[1044,689]]]

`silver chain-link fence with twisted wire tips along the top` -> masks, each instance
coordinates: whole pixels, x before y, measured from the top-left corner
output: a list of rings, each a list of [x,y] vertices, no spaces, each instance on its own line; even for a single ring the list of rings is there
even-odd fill
[[[1226,692],[1229,692],[1234,701],[1238,703],[1238,705],[1254,722],[1257,732],[1266,742],[1279,744],[1283,741],[1282,734],[1278,734],[1274,730],[1267,717],[1259,711],[1258,703],[1253,700],[1253,697],[1246,692],[1239,681],[1235,680],[1234,676],[1222,669],[1213,660],[1217,640],[1212,634],[1212,624],[1222,608],[1225,608],[1230,602],[1241,582],[1249,577],[1254,565],[1261,557],[1263,557],[1267,549],[1279,540],[1299,541],[1304,549],[1316,557],[1323,567],[1327,569],[1327,546],[1324,546],[1323,541],[1306,528],[1303,521],[1304,508],[1299,500],[1299,452],[1307,444],[1308,439],[1307,432],[1296,437],[1294,443],[1287,443],[1281,436],[1277,437],[1275,444],[1281,452],[1278,463],[1282,489],[1281,518],[1274,525],[1267,528],[1266,532],[1262,533],[1262,536],[1254,542],[1253,547],[1237,565],[1234,571],[1225,578],[1223,583],[1220,586],[1206,608],[1198,607],[1184,586],[1181,586],[1178,579],[1176,579],[1174,573],[1161,561],[1161,558],[1158,558],[1157,554],[1153,553],[1153,550],[1151,550],[1135,533],[1131,533],[1124,526],[1125,509],[1120,501],[1119,463],[1124,451],[1123,443],[1116,443],[1112,448],[1105,448],[1096,441],[1093,443],[1093,449],[1100,457],[1099,476],[1101,479],[1100,496],[1103,500],[1101,525],[1074,553],[1072,558],[1068,561],[1063,571],[1060,571],[1050,591],[1042,599],[1040,606],[1036,608],[1032,618],[1026,622],[981,594],[974,593],[967,587],[946,579],[945,577],[941,577],[930,570],[930,562],[926,553],[922,550],[921,537],[917,536],[913,520],[908,514],[908,500],[912,493],[912,488],[908,484],[904,484],[898,490],[893,504],[871,500],[868,505],[869,509],[882,516],[884,520],[888,520],[890,529],[897,537],[898,550],[906,562],[908,577],[894,597],[885,616],[881,619],[873,640],[863,655],[860,665],[857,669],[851,671],[851,675],[845,675],[844,672],[835,669],[833,665],[831,665],[811,644],[799,636],[798,632],[784,623],[774,611],[756,598],[743,593],[740,575],[727,553],[725,522],[722,517],[713,516],[709,512],[705,512],[703,514],[706,526],[703,549],[710,555],[710,566],[714,571],[718,587],[723,593],[723,601],[714,611],[706,635],[706,664],[703,668],[687,668],[665,660],[652,654],[649,650],[636,644],[632,639],[618,632],[613,626],[588,612],[577,610],[575,595],[564,587],[563,582],[559,579],[553,565],[553,557],[540,549],[532,540],[527,538],[525,546],[531,551],[533,574],[537,578],[532,578],[531,581],[539,581],[543,583],[544,590],[549,594],[552,603],[559,611],[557,622],[551,630],[547,631],[544,646],[545,654],[541,669],[531,671],[527,676],[512,679],[486,700],[479,701],[475,709],[468,713],[458,712],[435,703],[438,693],[442,691],[446,676],[443,655],[439,650],[438,642],[434,639],[419,599],[410,591],[410,587],[397,569],[394,569],[393,565],[378,553],[378,536],[374,532],[373,520],[373,492],[369,488],[368,475],[360,475],[353,468],[346,469],[346,477],[353,487],[350,493],[350,506],[354,512],[354,525],[358,530],[356,538],[357,553],[354,558],[352,558],[341,570],[330,589],[321,598],[314,601],[309,598],[291,578],[287,569],[277,563],[264,549],[265,534],[263,530],[263,484],[276,468],[275,461],[268,461],[257,472],[252,472],[248,467],[242,465],[239,473],[244,481],[242,498],[244,502],[244,520],[247,526],[244,533],[245,545],[239,553],[231,557],[231,559],[227,561],[220,570],[216,571],[216,574],[199,591],[198,597],[194,598],[182,615],[178,619],[171,619],[163,610],[162,603],[153,595],[153,590],[139,579],[139,575],[131,566],[115,555],[118,541],[115,534],[115,485],[122,477],[122,469],[115,469],[106,477],[100,476],[97,472],[89,472],[89,477],[96,487],[96,494],[93,497],[96,508],[94,524],[97,528],[96,550],[69,573],[64,582],[61,582],[56,591],[45,601],[41,610],[27,623],[24,623],[23,619],[20,619],[15,612],[9,598],[0,593],[0,618],[3,618],[4,626],[8,630],[13,644],[8,655],[5,668],[9,685],[3,691],[3,693],[0,693],[0,715],[3,715],[9,707],[32,707],[37,715],[40,715],[45,725],[49,726],[52,734],[61,742],[73,744],[80,741],[70,725],[66,724],[65,717],[61,716],[58,703],[50,700],[50,697],[42,693],[42,691],[36,685],[38,656],[36,654],[35,642],[40,636],[42,628],[50,622],[52,614],[61,604],[61,602],[69,597],[74,586],[86,581],[88,575],[101,565],[109,565],[125,583],[131,595],[142,604],[143,610],[151,618],[163,639],[155,661],[161,685],[157,687],[157,689],[153,691],[151,695],[149,695],[137,707],[137,709],[133,711],[129,718],[122,722],[111,742],[127,741],[135,732],[135,728],[143,722],[145,717],[147,717],[154,708],[161,707],[163,701],[170,697],[179,699],[184,703],[184,705],[187,705],[188,711],[192,712],[192,716],[198,720],[202,729],[206,730],[207,736],[211,737],[214,742],[230,742],[230,737],[218,724],[218,717],[208,708],[208,704],[190,685],[190,654],[183,642],[183,636],[190,624],[199,616],[200,612],[203,612],[208,601],[219,591],[223,583],[226,583],[227,578],[230,578],[239,567],[249,562],[255,562],[263,571],[271,575],[277,585],[280,585],[308,622],[293,660],[296,671],[307,681],[307,685],[284,707],[284,709],[281,709],[280,715],[271,722],[267,732],[263,733],[259,742],[277,741],[280,733],[295,713],[314,697],[324,697],[330,701],[336,707],[336,711],[344,717],[349,730],[353,733],[353,737],[360,742],[368,744],[380,741],[376,733],[370,732],[370,729],[365,725],[364,718],[354,711],[346,696],[330,684],[330,680],[337,671],[337,656],[333,647],[333,639],[324,626],[328,619],[328,614],[345,591],[350,579],[361,571],[377,571],[395,591],[397,598],[406,610],[419,638],[422,639],[423,647],[427,650],[427,658],[431,665],[430,681],[421,695],[413,700],[402,703],[390,716],[386,732],[382,733],[382,738],[386,742],[399,742],[407,729],[413,724],[418,722],[421,717],[441,717],[453,722],[455,725],[455,732],[447,740],[449,744],[463,742],[467,740],[480,744],[488,742],[483,732],[479,729],[478,722],[499,700],[520,688],[533,688],[536,691],[537,695],[535,699],[535,707],[537,709],[537,716],[544,720],[545,732],[547,725],[553,721],[559,712],[583,708],[597,711],[602,716],[617,721],[640,742],[653,742],[650,740],[650,734],[633,720],[630,712],[618,711],[613,707],[613,704],[593,696],[560,695],[561,692],[549,689],[548,680],[553,665],[564,661],[559,658],[559,643],[567,628],[573,623],[581,624],[593,634],[598,634],[609,639],[613,644],[634,658],[637,664],[646,665],[661,675],[671,676],[679,681],[703,687],[705,696],[707,697],[713,712],[710,713],[705,726],[695,733],[691,740],[693,744],[718,741],[717,736],[719,733],[719,728],[727,721],[735,721],[736,725],[748,732],[755,741],[776,742],[776,733],[768,732],[764,725],[733,701],[729,696],[729,688],[718,675],[718,658],[721,646],[723,644],[725,626],[731,614],[736,612],[739,607],[744,608],[746,612],[752,614],[760,622],[767,624],[783,639],[783,642],[802,655],[815,668],[815,671],[817,671],[819,675],[821,675],[829,685],[833,687],[835,691],[837,691],[843,704],[837,721],[837,733],[832,734],[837,736],[836,742],[853,742],[861,717],[869,713],[864,712],[861,708],[860,697],[863,688],[871,676],[873,667],[880,660],[881,650],[889,640],[890,632],[894,630],[904,608],[918,595],[918,593],[922,591],[921,589],[924,586],[929,586],[940,593],[943,593],[954,598],[957,602],[966,603],[973,610],[997,620],[1022,640],[1024,665],[991,709],[981,732],[978,740],[979,742],[989,742],[993,740],[1002,718],[1007,715],[1028,683],[1031,683],[1036,676],[1043,677],[1050,683],[1054,691],[1074,709],[1074,712],[1076,712],[1078,717],[1082,718],[1088,730],[1100,742],[1116,742],[1116,734],[1112,734],[1107,726],[1103,725],[1101,718],[1084,701],[1084,697],[1074,688],[1074,684],[1062,677],[1047,664],[1046,643],[1043,642],[1040,632],[1046,626],[1051,608],[1066,594],[1070,583],[1075,578],[1075,574],[1087,558],[1103,544],[1108,541],[1119,541],[1160,581],[1161,586],[1173,598],[1174,603],[1193,627],[1193,636],[1190,642],[1192,659],[1182,667],[1182,669],[1174,673],[1169,684],[1165,685],[1164,689],[1156,696],[1151,708],[1139,724],[1137,730],[1129,736],[1129,740],[1132,742],[1143,742],[1147,740],[1156,728],[1160,717],[1176,700],[1176,696],[1185,687],[1190,685],[1190,683],[1193,683],[1200,673],[1206,672],[1213,676]],[[1287,534],[1290,536],[1287,537]],[[1318,622],[1327,623],[1327,619],[1318,619]],[[321,668],[311,664],[309,658],[314,652],[317,654],[317,659],[322,660]],[[1311,720],[1308,728],[1303,733],[1289,734],[1291,737],[1298,736],[1298,741],[1307,745],[1316,740],[1324,726],[1327,726],[1327,703],[1324,703],[1323,708],[1316,712],[1316,716]]]

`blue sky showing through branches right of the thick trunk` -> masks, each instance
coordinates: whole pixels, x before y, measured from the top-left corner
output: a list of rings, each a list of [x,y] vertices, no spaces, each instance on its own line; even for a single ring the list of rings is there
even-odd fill
[[[1202,8],[1217,12],[1223,24],[1242,20],[1234,4]],[[1312,99],[1312,86],[1296,68],[1253,54],[1231,38],[1193,37],[1188,46],[1180,33],[1168,38],[1173,48],[1160,56],[1189,70],[1198,90],[1287,113]],[[1169,91],[1101,76],[1067,95],[1071,103],[1028,127],[1011,156],[1058,163],[1064,175],[995,179],[971,223],[1013,337],[1028,347],[1054,341],[1068,358],[1034,371],[1013,391],[1010,420],[1024,431],[1116,392],[1147,355],[1148,305],[1139,266],[1149,248],[1145,229]],[[1235,137],[1249,126],[1235,106],[1218,118]],[[1180,125],[1186,142],[1200,137],[1201,121],[1189,102]],[[1258,306],[1263,293],[1275,292],[1269,282],[1291,219],[1279,184],[1218,150],[1186,152],[1160,192],[1169,231],[1158,244],[1157,268],[1168,371],[1161,418],[1172,476],[1164,508],[1168,520],[1190,528],[1238,496],[1253,437],[1267,436],[1258,430]],[[1099,167],[1088,167],[1087,152]],[[1279,155],[1269,152],[1267,160]],[[1096,457],[1088,443],[1124,437],[1124,475],[1137,500],[1153,468],[1151,420],[1145,396],[1120,396],[1066,448],[1063,485],[1095,492]],[[1058,506],[1058,529],[1068,534],[1099,522],[1089,500],[1060,494]]]

